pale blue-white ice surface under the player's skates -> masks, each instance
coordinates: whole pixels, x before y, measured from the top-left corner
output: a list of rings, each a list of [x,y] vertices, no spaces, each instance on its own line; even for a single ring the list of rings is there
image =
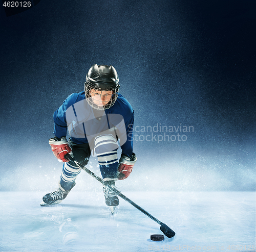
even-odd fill
[[[112,216],[101,188],[40,207],[45,193],[0,192],[0,251],[255,251],[255,192],[123,191],[176,232],[158,242],[159,224],[123,199]]]

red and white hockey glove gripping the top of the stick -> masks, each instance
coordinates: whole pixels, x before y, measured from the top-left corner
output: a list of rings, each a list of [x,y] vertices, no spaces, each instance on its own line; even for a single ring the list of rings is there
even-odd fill
[[[62,160],[63,162],[69,162],[69,160],[64,156],[68,153],[73,156],[73,153],[66,137],[61,137],[61,139],[57,137],[51,138],[49,139],[49,144],[51,145],[53,154],[57,159]]]

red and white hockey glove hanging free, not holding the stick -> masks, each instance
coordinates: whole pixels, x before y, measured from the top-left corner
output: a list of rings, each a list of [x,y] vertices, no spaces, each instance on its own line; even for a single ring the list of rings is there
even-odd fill
[[[133,170],[133,166],[136,162],[137,158],[136,155],[133,153],[132,158],[129,158],[125,155],[121,155],[121,158],[119,160],[118,163],[118,180],[124,180],[127,179],[129,177],[129,175],[131,174],[132,170]]]

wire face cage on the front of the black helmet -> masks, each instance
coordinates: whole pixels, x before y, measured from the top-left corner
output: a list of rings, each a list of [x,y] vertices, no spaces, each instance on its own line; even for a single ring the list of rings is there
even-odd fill
[[[105,110],[105,109],[109,109],[110,107],[112,107],[114,105],[114,103],[116,102],[116,99],[118,97],[119,87],[120,87],[120,85],[118,84],[118,85],[116,85],[116,88],[114,88],[114,89],[105,89],[104,88],[105,90],[102,90],[102,88],[100,88],[100,87],[98,87],[98,88],[91,87],[89,82],[85,82],[84,83],[84,92],[86,94],[87,102],[89,103],[89,105],[92,108],[94,108],[96,110]],[[100,92],[100,94],[92,95],[92,93],[95,93],[95,91],[97,91],[97,93]],[[107,93],[108,91],[112,91],[111,99],[107,104],[105,104],[105,105],[102,104],[102,106],[101,106],[99,104],[99,99],[102,100],[101,96],[109,95]]]

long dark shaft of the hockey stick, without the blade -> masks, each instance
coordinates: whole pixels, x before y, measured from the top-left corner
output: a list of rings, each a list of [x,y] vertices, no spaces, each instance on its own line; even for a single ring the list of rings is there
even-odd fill
[[[93,178],[95,178],[97,181],[99,181],[101,184],[108,186],[109,188],[111,188],[111,190],[113,190],[119,197],[123,198],[125,201],[127,201],[128,203],[132,204],[135,208],[137,208],[138,210],[140,210],[143,214],[145,214],[146,216],[150,217],[151,219],[153,219],[154,221],[156,221],[158,224],[163,225],[164,223],[161,222],[160,220],[158,220],[157,218],[155,218],[153,215],[151,215],[150,213],[148,213],[147,211],[145,211],[143,208],[141,208],[139,205],[137,205],[134,201],[132,201],[130,198],[127,198],[125,195],[123,195],[120,191],[118,191],[115,187],[109,185],[108,183],[106,183],[104,180],[102,180],[100,177],[98,177],[95,173],[93,173],[92,171],[90,171],[89,169],[87,169],[85,166],[81,165],[80,163],[78,163],[77,161],[75,161],[69,154],[67,154],[65,156],[66,158],[68,158],[70,161],[72,161],[73,163],[75,163],[76,165],[78,165],[80,168],[82,168],[83,170],[85,170],[88,174],[90,174]]]

